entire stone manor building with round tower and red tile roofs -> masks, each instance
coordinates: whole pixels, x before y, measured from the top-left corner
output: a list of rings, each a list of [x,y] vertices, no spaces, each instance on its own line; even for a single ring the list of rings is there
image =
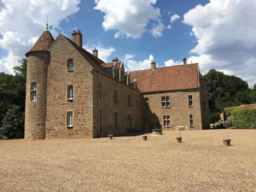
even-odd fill
[[[152,62],[151,70],[127,73],[117,58],[104,63],[82,45],[79,30],[72,40],[54,40],[46,30],[26,53],[26,140],[125,135],[154,128],[156,119],[170,129],[208,127],[207,82],[198,64]]]

